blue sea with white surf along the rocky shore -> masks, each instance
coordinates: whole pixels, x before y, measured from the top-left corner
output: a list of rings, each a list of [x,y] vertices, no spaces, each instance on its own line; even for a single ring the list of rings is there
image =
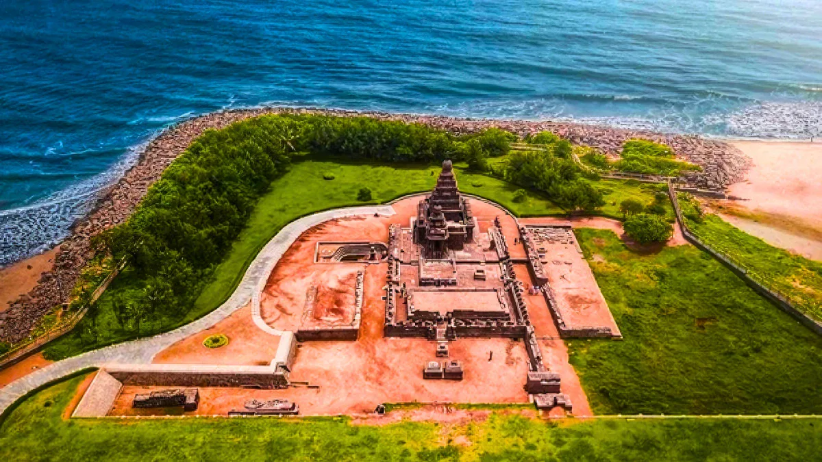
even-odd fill
[[[0,265],[169,123],[290,104],[801,137],[819,0],[0,2]]]

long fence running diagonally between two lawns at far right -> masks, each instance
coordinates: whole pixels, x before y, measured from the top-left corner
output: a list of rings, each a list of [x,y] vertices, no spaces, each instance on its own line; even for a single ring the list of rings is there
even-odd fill
[[[732,256],[715,250],[707,243],[704,243],[700,238],[697,238],[694,233],[691,233],[685,224],[685,219],[682,218],[682,211],[679,208],[679,201],[677,201],[677,192],[674,189],[672,182],[668,181],[667,185],[668,196],[671,196],[673,210],[675,215],[677,215],[677,223],[679,223],[679,227],[682,230],[682,237],[686,238],[688,242],[700,248],[700,250],[708,252],[711,256],[713,256],[713,258],[717,259],[724,266],[727,266],[727,268],[732,270],[735,275],[741,278],[741,280],[744,280],[751,289],[754,289],[757,293],[760,293],[760,295],[764,298],[769,299],[776,306],[782,308],[784,312],[787,312],[787,314],[796,318],[797,321],[800,321],[803,325],[808,327],[810,330],[813,330],[816,334],[822,335],[822,323],[820,323],[820,321],[815,321],[800,309],[794,307],[785,293],[779,289],[775,289],[773,285],[766,281],[760,282],[758,280],[754,280],[748,274],[748,268],[746,268],[741,261],[737,261]]]

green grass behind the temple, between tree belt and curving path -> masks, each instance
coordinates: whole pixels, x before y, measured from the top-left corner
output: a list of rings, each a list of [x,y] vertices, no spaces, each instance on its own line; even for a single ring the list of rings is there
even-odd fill
[[[100,348],[136,338],[172,330],[215,310],[229,298],[257,252],[275,236],[279,229],[294,219],[344,206],[385,203],[412,192],[430,191],[436,183],[439,166],[344,163],[337,159],[303,157],[295,159],[292,169],[271,185],[271,190],[257,203],[247,226],[233,244],[231,252],[205,281],[201,295],[185,316],[160,318],[147,322],[140,332],[125,330],[112,309],[115,297],[130,298],[134,290],[132,273],[124,270],[99,299],[97,306],[67,335],[53,341],[45,349],[47,358],[61,359],[83,351]],[[333,180],[323,179],[333,173]],[[538,192],[529,192],[523,202],[515,202],[519,189],[499,178],[460,169],[457,173],[460,191],[496,201],[515,215],[562,215],[563,211]],[[632,182],[602,182],[609,194],[616,197],[636,196],[641,201],[653,200],[653,190]],[[357,200],[361,187],[372,189],[372,201]],[[603,214],[621,218],[618,202],[603,207]]]

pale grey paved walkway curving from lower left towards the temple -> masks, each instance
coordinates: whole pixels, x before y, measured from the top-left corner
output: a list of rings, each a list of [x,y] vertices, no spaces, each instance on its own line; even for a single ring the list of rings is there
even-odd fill
[[[201,330],[214,326],[231,313],[246,306],[249,301],[252,300],[252,297],[259,297],[259,293],[265,287],[266,280],[268,280],[268,276],[271,270],[274,269],[277,261],[279,261],[280,256],[283,256],[284,252],[291,247],[291,244],[299,238],[300,234],[312,228],[312,226],[321,224],[329,219],[351,215],[394,215],[394,213],[394,209],[391,206],[352,207],[319,212],[289,223],[283,229],[280,229],[279,233],[266,244],[266,247],[263,247],[254,261],[252,261],[252,264],[248,266],[248,270],[246,274],[242,276],[242,281],[237,289],[231,297],[215,311],[171,332],[147,337],[145,339],[132,340],[122,344],[115,344],[103,349],[96,349],[95,351],[49,364],[38,371],[21,377],[0,390],[0,413],[3,413],[8,406],[31,390],[35,390],[35,388],[39,386],[44,386],[48,382],[57,380],[60,377],[65,377],[72,372],[77,372],[88,367],[103,367],[106,364],[148,364],[151,363],[151,359],[155,357],[155,354],[163,351],[172,344],[194,335]],[[255,316],[255,321],[257,317],[258,316]]]

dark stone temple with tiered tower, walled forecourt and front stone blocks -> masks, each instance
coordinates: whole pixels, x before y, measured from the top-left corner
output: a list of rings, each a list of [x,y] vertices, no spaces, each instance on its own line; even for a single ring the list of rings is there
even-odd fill
[[[560,394],[559,375],[543,364],[499,218],[487,224],[486,233],[477,229],[478,219],[446,160],[411,226],[390,226],[384,334],[436,340],[441,358],[448,357],[447,342],[457,338],[522,339],[529,357],[525,390],[540,409],[561,405],[570,410],[570,399]],[[462,377],[457,360],[423,367],[426,379]]]

